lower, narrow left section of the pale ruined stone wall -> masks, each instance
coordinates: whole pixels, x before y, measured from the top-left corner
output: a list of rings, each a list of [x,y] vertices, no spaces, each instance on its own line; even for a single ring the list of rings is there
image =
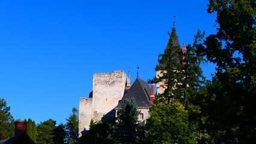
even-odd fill
[[[92,118],[93,98],[80,98],[79,103],[79,137],[82,132],[86,133],[89,130],[89,125]]]

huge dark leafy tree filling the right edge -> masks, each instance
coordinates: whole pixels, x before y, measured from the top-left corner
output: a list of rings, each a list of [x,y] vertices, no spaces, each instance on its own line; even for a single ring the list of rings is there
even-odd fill
[[[256,140],[256,1],[210,0],[217,34],[209,35],[201,53],[216,64],[208,86],[204,127],[210,143]]]

